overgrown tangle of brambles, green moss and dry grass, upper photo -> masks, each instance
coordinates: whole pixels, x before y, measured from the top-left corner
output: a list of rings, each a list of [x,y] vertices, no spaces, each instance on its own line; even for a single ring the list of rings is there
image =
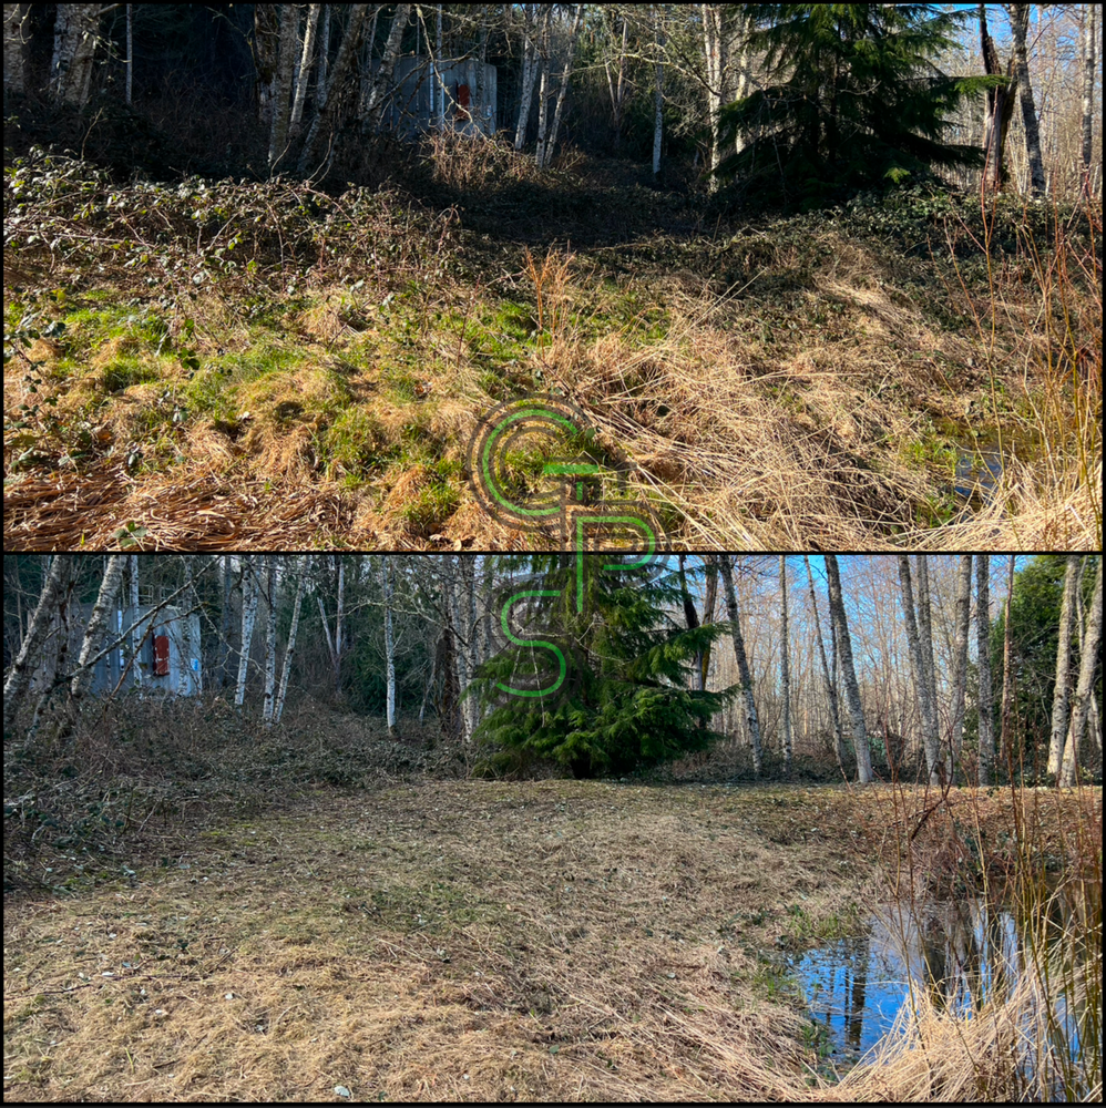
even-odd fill
[[[407,158],[334,191],[10,158],[8,545],[555,544],[469,485],[481,414],[532,393],[680,548],[1100,545],[1092,206],[708,223],[583,155]]]

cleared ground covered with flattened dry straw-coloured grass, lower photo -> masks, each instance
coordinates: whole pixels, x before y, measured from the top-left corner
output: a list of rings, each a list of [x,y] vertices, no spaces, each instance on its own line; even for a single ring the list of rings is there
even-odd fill
[[[955,872],[972,810],[895,796],[459,781],[152,818],[122,874],[6,905],[6,1098],[831,1094],[787,955],[861,924],[895,828]]]

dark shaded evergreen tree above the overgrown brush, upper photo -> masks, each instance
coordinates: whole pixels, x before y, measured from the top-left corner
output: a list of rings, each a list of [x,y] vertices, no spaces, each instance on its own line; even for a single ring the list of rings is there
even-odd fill
[[[936,165],[980,165],[941,142],[961,96],[1002,76],[952,78],[932,59],[967,11],[935,4],[745,4],[746,45],[767,83],[719,112],[737,153],[716,173],[769,203],[811,208],[866,188],[918,182]]]

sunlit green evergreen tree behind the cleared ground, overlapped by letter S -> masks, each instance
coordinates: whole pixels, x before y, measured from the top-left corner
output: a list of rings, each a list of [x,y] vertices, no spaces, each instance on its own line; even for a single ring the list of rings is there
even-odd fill
[[[728,624],[688,630],[677,623],[683,594],[673,567],[637,565],[631,555],[521,561],[531,575],[494,601],[504,648],[479,681],[485,702],[496,707],[477,738],[499,748],[502,765],[531,752],[576,777],[595,777],[679,758],[721,738],[706,725],[737,687],[690,686],[696,655]],[[502,565],[518,568],[520,558],[506,556]]]

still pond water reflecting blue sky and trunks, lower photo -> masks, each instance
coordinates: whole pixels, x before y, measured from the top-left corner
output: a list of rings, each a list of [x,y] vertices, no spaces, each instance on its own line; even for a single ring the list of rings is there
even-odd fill
[[[1082,911],[1097,913],[1100,935],[1102,886],[1084,903],[1088,906]],[[1054,897],[1049,909],[1048,948],[1058,954],[1072,907]],[[839,1067],[848,1067],[892,1029],[910,1004],[911,987],[915,994],[924,991],[938,1009],[956,1014],[1008,995],[1025,972],[1026,943],[1026,927],[1015,915],[984,900],[931,902],[916,911],[891,904],[872,916],[868,935],[809,951],[792,970],[802,983],[811,1020],[828,1038],[830,1056]],[[1085,960],[1086,953],[1077,956]],[[1100,994],[1097,1014],[1088,1013],[1082,1001],[1071,1005],[1069,1014],[1066,992],[1056,992],[1054,1020],[1065,1045],[1077,1051],[1081,1026],[1097,1027],[1100,1036]],[[1089,1025],[1084,1023],[1088,1017]]]

